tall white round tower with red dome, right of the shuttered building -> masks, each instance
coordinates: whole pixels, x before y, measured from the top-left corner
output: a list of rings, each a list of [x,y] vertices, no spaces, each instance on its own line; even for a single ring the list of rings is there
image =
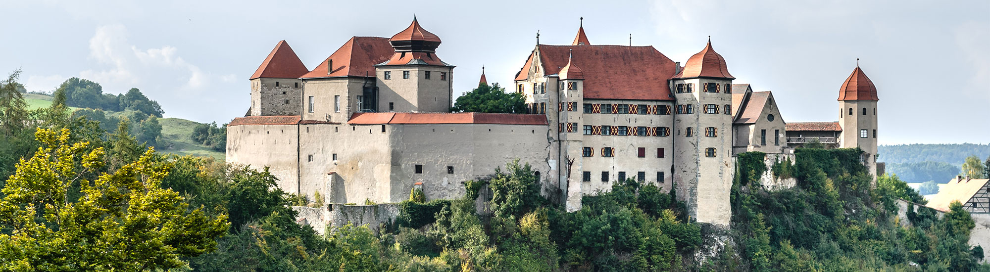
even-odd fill
[[[670,80],[674,111],[673,177],[677,197],[698,222],[728,225],[733,184],[732,83],[709,40]]]

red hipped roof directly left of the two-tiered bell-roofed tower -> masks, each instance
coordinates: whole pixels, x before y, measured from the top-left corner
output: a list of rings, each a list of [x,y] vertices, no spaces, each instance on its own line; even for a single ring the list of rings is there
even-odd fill
[[[334,51],[330,57],[317,64],[313,71],[302,78],[335,76],[374,76],[374,65],[388,60],[395,52],[388,39],[380,37],[352,37]],[[327,61],[333,59],[334,71],[327,73]]]

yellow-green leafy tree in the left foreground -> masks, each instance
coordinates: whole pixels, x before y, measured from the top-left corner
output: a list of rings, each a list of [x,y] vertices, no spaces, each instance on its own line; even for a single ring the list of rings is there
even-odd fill
[[[185,266],[214,250],[226,217],[190,210],[159,187],[168,173],[148,149],[113,173],[98,173],[103,148],[69,143],[69,131],[40,129],[42,147],[18,163],[0,199],[0,270],[147,271]],[[75,182],[81,197],[66,193]]]

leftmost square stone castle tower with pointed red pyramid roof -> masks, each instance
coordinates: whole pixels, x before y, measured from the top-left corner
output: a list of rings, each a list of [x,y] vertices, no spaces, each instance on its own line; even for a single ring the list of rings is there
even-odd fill
[[[302,80],[309,72],[285,41],[279,41],[250,77],[249,116],[299,115]]]

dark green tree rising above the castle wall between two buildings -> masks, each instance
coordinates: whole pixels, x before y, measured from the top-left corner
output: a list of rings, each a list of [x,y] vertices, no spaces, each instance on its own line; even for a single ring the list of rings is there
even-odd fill
[[[480,84],[458,97],[450,112],[523,114],[526,113],[526,98],[522,93],[506,93],[498,83]]]

